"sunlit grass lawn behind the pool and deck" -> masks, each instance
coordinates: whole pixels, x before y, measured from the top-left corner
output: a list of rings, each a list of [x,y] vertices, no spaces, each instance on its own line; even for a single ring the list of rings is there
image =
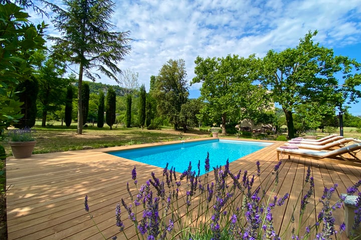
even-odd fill
[[[174,130],[170,127],[163,127],[161,130],[147,130],[138,127],[125,128],[113,126],[110,130],[107,124],[98,128],[96,124],[88,123],[88,127],[83,128],[83,134],[76,133],[76,123],[70,127],[61,125],[59,121],[50,121],[46,127],[41,127],[41,121],[37,121],[33,129],[36,130],[36,147],[34,154],[48,153],[57,151],[81,150],[84,148],[101,148],[120,145],[133,145],[140,143],[170,141],[183,138],[208,137],[209,132],[197,129],[189,130],[184,133],[180,130]],[[337,129],[336,129],[337,130]],[[337,130],[334,133],[339,133]],[[319,136],[329,133],[317,132]],[[234,136],[234,135],[228,135]],[[357,132],[356,127],[344,127],[344,136],[361,138],[361,133]],[[11,156],[11,147],[7,141],[3,141],[7,156]]]

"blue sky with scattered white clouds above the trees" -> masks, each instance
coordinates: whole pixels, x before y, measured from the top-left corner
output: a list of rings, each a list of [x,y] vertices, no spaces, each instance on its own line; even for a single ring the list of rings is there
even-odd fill
[[[61,0],[51,0],[61,5]],[[149,89],[169,59],[183,58],[188,82],[195,77],[195,59],[237,54],[263,57],[270,49],[295,47],[309,30],[314,42],[335,55],[361,62],[361,0],[122,0],[115,2],[114,31],[130,31],[132,50],[121,69],[138,72]],[[38,16],[34,16],[36,22]],[[56,35],[50,19],[48,33]],[[102,83],[116,85],[103,77]],[[200,83],[189,87],[200,95]],[[360,88],[361,89],[361,88]],[[361,100],[361,99],[360,99]],[[349,112],[361,115],[361,103]]]

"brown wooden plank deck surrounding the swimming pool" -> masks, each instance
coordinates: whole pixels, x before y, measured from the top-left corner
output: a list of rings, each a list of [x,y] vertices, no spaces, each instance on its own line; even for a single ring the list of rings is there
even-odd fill
[[[149,179],[151,171],[160,177],[162,168],[119,158],[105,151],[168,143],[172,142],[36,154],[25,159],[8,158],[8,238],[103,239],[84,210],[84,196],[87,194],[91,214],[103,234],[107,238],[118,235],[118,239],[123,239],[115,226],[114,209],[122,197],[128,197],[126,182],[132,181],[131,170],[135,165],[141,184]],[[254,172],[257,169],[255,162],[259,160],[261,176],[271,175],[277,163],[275,148],[282,143],[275,142],[236,160],[230,164],[230,169],[232,172],[239,169]],[[290,221],[307,166],[312,167],[316,201],[321,197],[324,186],[338,183],[337,193],[341,194],[361,178],[361,166],[299,157],[287,160],[286,155],[282,158],[276,193],[283,196],[289,192],[290,198],[277,209],[277,217],[274,216],[275,227],[281,232]],[[343,221],[343,209],[336,212],[336,224],[339,224]],[[314,222],[316,214],[311,217],[311,222]],[[126,218],[126,215],[122,216],[122,219]],[[127,231],[131,235],[132,227]],[[283,239],[290,239],[289,234]]]

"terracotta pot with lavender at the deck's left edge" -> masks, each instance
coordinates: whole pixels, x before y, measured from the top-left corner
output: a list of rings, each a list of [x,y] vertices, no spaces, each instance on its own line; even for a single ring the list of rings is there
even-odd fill
[[[31,128],[9,130],[9,145],[15,158],[30,157],[36,144],[34,131]]]

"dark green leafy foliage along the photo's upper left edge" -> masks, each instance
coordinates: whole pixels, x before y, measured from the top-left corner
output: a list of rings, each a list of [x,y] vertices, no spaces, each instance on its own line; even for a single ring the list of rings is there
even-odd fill
[[[0,135],[4,128],[22,117],[19,100],[14,98],[15,87],[29,79],[32,55],[44,49],[44,22],[35,26],[29,14],[14,3],[0,4]]]

